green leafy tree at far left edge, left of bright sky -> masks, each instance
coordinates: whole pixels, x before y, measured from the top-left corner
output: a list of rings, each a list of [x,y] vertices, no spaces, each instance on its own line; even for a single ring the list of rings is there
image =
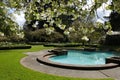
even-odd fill
[[[0,32],[5,36],[16,33],[17,24],[14,23],[7,15],[8,7],[4,3],[0,3]]]

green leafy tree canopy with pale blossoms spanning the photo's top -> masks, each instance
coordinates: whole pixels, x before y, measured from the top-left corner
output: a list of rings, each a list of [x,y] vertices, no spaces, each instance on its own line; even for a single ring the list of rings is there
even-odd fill
[[[87,33],[95,31],[94,25],[91,24],[94,22],[95,11],[107,1],[91,0],[92,4],[88,5],[87,0],[1,0],[0,32],[8,35],[15,28],[16,24],[6,15],[7,8],[15,8],[17,11],[25,11],[27,31],[44,29],[47,35],[58,32],[69,37],[70,33],[76,32],[86,36]],[[111,3],[108,8],[117,8],[119,11],[117,1],[113,0],[114,4]]]

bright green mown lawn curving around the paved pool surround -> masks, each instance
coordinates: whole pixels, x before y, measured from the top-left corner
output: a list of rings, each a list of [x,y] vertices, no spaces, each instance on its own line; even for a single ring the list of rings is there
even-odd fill
[[[43,46],[33,46],[25,50],[0,50],[0,80],[113,80],[113,79],[83,79],[49,75],[36,72],[20,64],[25,52],[48,49]]]

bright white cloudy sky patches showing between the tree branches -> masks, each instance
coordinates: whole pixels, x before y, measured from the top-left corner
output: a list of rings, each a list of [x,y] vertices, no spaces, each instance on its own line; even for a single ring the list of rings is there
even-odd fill
[[[81,1],[81,0],[80,0]],[[85,5],[84,7],[91,7],[92,6],[92,2],[93,0],[87,0],[87,5]],[[104,18],[104,16],[109,16],[110,13],[111,13],[111,10],[106,10],[105,7],[108,6],[109,4],[111,4],[112,0],[108,0],[107,3],[103,3],[102,6],[100,6],[98,9],[97,9],[97,15],[98,17],[96,17],[96,21],[97,22],[101,22],[101,23],[104,23],[105,21],[108,21],[107,19]],[[14,13],[14,10],[15,9],[10,9],[9,10],[9,13],[13,13],[13,17],[12,18],[15,22],[18,23],[18,25],[20,27],[23,27],[24,23],[25,23],[25,14],[23,11],[20,11],[19,14],[17,13]]]

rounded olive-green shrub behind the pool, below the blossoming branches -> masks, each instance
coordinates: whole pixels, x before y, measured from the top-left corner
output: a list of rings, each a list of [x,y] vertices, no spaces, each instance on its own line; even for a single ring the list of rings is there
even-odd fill
[[[73,22],[72,24],[72,28],[68,29],[69,35],[69,41],[70,42],[83,42],[82,37],[86,36],[88,37],[88,39],[91,39],[91,37],[89,37],[90,35],[92,35],[92,33],[95,31],[94,25],[92,24],[92,22],[82,22],[79,20],[76,20]]]

